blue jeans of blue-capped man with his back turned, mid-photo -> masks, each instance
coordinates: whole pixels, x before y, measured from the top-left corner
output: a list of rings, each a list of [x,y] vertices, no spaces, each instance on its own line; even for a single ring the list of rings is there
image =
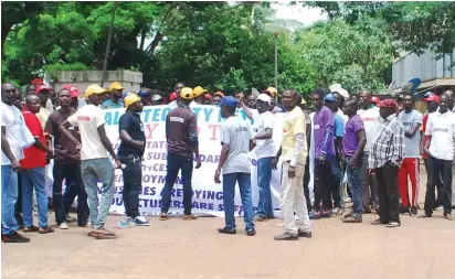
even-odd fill
[[[234,173],[223,174],[223,203],[224,203],[224,218],[225,218],[226,227],[231,229],[235,228],[235,217],[234,217],[235,182],[239,183],[240,195],[242,197],[245,230],[250,230],[254,228],[253,201],[251,196],[251,174],[244,173],[244,172],[234,172]]]

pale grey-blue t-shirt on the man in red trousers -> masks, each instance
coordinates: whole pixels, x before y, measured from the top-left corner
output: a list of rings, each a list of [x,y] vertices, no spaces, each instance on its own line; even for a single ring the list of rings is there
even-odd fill
[[[399,121],[404,127],[404,132],[410,131],[414,125],[422,125],[423,116],[417,110],[413,109],[411,112],[401,111]],[[421,133],[415,131],[412,138],[404,137],[404,158],[420,158]]]

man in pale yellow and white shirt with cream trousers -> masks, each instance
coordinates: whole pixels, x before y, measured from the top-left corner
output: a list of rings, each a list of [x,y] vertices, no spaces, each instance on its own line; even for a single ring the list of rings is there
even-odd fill
[[[311,237],[311,225],[301,186],[307,157],[306,122],[304,112],[297,107],[297,92],[285,89],[282,96],[286,116],[283,121],[283,142],[275,157],[274,167],[283,155],[281,202],[285,228],[284,233],[274,239],[298,240],[298,237]],[[297,219],[294,218],[294,213]]]

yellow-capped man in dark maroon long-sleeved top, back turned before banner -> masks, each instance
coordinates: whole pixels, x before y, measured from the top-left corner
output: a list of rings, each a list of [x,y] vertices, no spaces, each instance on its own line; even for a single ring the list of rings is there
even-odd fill
[[[193,98],[194,94],[190,87],[181,88],[180,101],[177,103],[177,108],[172,109],[166,117],[168,164],[166,184],[162,189],[162,207],[159,215],[161,221],[168,219],[171,191],[180,170],[183,183],[183,218],[187,221],[198,218],[197,215],[191,213],[191,197],[193,194],[191,187],[193,153],[195,154],[195,169],[201,168],[201,159],[199,158],[198,118],[190,109],[190,104]]]

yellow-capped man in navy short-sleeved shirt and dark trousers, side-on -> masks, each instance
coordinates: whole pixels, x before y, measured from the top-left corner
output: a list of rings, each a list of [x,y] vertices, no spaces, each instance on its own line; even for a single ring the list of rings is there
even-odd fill
[[[139,112],[144,106],[141,98],[131,93],[124,98],[126,112],[120,117],[118,130],[120,147],[118,159],[125,164],[124,173],[124,204],[128,221],[137,226],[150,226],[150,222],[140,216],[139,193],[142,190],[142,157],[146,150],[146,135]]]

